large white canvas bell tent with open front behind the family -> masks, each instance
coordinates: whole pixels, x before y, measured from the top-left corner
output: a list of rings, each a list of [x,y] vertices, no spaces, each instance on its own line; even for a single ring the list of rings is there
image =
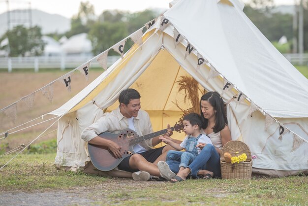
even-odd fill
[[[125,88],[140,92],[154,131],[177,122],[182,112],[174,102],[191,107],[176,83],[187,75],[207,91],[222,94],[232,139],[244,141],[257,156],[254,172],[307,172],[308,80],[251,23],[239,0],[171,5],[154,25],[148,24],[142,46],[133,45],[123,59],[50,113],[62,116],[55,164],[83,167],[90,161],[81,132],[104,109],[118,106]]]

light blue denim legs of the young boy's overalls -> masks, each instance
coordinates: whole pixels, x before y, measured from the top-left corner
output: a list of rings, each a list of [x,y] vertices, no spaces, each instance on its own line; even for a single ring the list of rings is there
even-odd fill
[[[168,161],[177,161],[180,162],[180,167],[185,167],[192,163],[192,161],[197,157],[197,155],[190,152],[181,152],[176,150],[169,150],[166,157],[166,162]]]

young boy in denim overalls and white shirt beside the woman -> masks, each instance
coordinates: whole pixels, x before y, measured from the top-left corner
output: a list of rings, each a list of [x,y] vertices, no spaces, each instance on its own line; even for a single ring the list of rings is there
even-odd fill
[[[164,137],[159,137],[163,142],[178,150],[169,150],[167,153],[166,162],[159,161],[157,164],[161,176],[167,180],[172,179],[176,175],[170,170],[168,161],[181,162],[179,165],[179,172],[181,172],[198,156],[198,154],[200,154],[200,143],[212,144],[211,139],[200,132],[202,129],[202,120],[199,114],[189,113],[185,115],[183,125],[183,130],[187,136],[181,144],[175,143]],[[185,149],[184,152],[180,151],[183,149]]]

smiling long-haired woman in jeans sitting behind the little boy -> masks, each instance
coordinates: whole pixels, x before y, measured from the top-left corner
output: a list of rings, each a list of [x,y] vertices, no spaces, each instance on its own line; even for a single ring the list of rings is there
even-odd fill
[[[200,100],[203,131],[213,143],[204,146],[201,153],[185,170],[179,172],[179,163],[169,162],[173,172],[178,172],[172,182],[185,180],[190,174],[193,178],[220,177],[220,151],[222,146],[231,140],[228,121],[224,112],[224,105],[217,92],[208,92]],[[200,146],[202,148],[202,146]]]

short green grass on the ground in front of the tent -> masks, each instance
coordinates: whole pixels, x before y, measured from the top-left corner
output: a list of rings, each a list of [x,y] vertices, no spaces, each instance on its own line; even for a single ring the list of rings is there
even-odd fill
[[[55,155],[18,155],[0,172],[1,193],[69,191],[84,195],[93,205],[308,205],[308,177],[305,175],[137,182],[59,171],[53,165]],[[0,165],[11,157],[1,157]]]

